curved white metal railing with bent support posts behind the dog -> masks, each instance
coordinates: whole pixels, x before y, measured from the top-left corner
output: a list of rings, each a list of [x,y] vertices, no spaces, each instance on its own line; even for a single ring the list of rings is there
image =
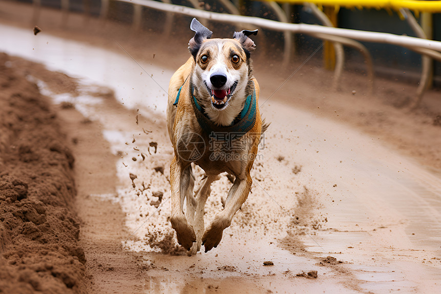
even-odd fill
[[[69,0],[61,0],[62,1],[62,10],[67,13],[67,5],[66,3],[69,3]],[[102,0],[102,8],[100,17],[106,18],[108,8],[109,8],[109,2],[110,1],[118,1],[118,2],[125,2],[130,3],[135,7],[134,16],[133,16],[133,25],[134,27],[140,27],[141,21],[142,21],[142,10],[141,7],[148,7],[151,9],[164,11],[167,13],[167,19],[166,19],[166,31],[171,30],[172,25],[172,14],[178,13],[193,17],[198,17],[202,19],[206,19],[208,21],[218,21],[218,22],[224,22],[224,23],[230,23],[233,25],[238,24],[249,24],[253,25],[259,28],[266,28],[271,29],[275,31],[282,31],[285,34],[285,48],[284,48],[284,61],[289,61],[290,55],[291,55],[291,33],[305,33],[309,34],[314,37],[321,38],[323,40],[328,40],[335,43],[340,43],[345,46],[354,47],[357,50],[359,50],[366,59],[367,67],[368,67],[368,76],[371,80],[371,83],[373,83],[373,68],[372,68],[372,61],[369,52],[366,50],[366,48],[356,42],[357,41],[364,41],[364,42],[371,42],[371,43],[382,43],[382,44],[390,44],[390,45],[396,45],[408,48],[410,50],[413,50],[419,54],[423,55],[423,73],[422,73],[422,84],[417,90],[417,101],[415,103],[415,106],[422,100],[422,96],[424,94],[424,89],[427,86],[428,77],[427,75],[427,64],[429,61],[429,57],[433,58],[434,60],[441,61],[441,42],[438,41],[432,41],[427,40],[425,38],[418,38],[418,37],[411,37],[411,36],[405,36],[405,35],[395,35],[391,33],[382,33],[382,32],[370,32],[370,31],[360,31],[360,30],[352,30],[352,29],[342,29],[342,28],[335,28],[332,26],[319,26],[319,25],[308,25],[308,24],[291,24],[287,23],[287,18],[282,15],[282,9],[280,7],[273,7],[276,5],[274,2],[269,2],[269,7],[276,13],[277,17],[280,19],[281,22],[278,21],[272,21],[270,19],[265,18],[259,18],[254,16],[244,16],[244,15],[237,15],[238,10],[235,8],[235,6],[229,1],[229,0],[218,0],[220,3],[222,3],[224,6],[227,7],[228,12],[233,14],[226,14],[226,13],[217,13],[217,12],[210,12],[202,10],[198,7],[198,2],[196,0],[189,0],[191,5],[195,8],[190,8],[186,6],[179,6],[179,5],[173,5],[171,4],[171,0],[161,0],[163,2],[156,2],[151,0]],[[41,0],[33,0],[35,9],[38,10],[39,6],[41,5]],[[226,5],[230,4],[230,5]],[[310,5],[311,6],[311,5]],[[278,9],[276,9],[278,8]],[[313,7],[314,8],[314,7]],[[315,11],[315,14],[317,14],[319,11]],[[38,14],[37,11],[35,11],[36,14]],[[403,13],[406,15],[406,13]],[[320,15],[318,15],[320,16]],[[414,19],[411,18],[410,14],[407,14],[407,21],[410,22],[411,27],[418,32],[417,24],[415,23]],[[34,15],[34,18],[38,17]],[[320,18],[320,17],[319,17]],[[323,18],[323,17],[322,17]],[[320,19],[322,19],[320,18]],[[323,19],[322,19],[323,21]],[[326,21],[326,19],[325,19]],[[325,22],[326,25],[326,22]],[[329,24],[328,24],[329,25]],[[420,34],[418,34],[420,36]],[[340,45],[341,46],[341,45]],[[338,51],[338,50],[337,50]],[[342,50],[340,50],[342,51]],[[344,60],[342,57],[342,52],[340,52],[339,59],[341,61]],[[338,56],[337,56],[338,57]],[[287,62],[285,62],[287,64]],[[342,62],[340,62],[342,63]],[[336,86],[339,75],[341,72],[341,69],[343,68],[343,64],[340,64],[338,67],[336,67],[336,72],[334,76],[334,86]],[[371,84],[373,85],[373,84]],[[373,89],[373,87],[372,87]]]

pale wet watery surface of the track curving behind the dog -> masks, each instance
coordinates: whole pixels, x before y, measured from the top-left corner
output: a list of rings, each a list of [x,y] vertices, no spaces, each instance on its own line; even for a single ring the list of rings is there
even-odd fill
[[[142,64],[154,82],[127,55],[44,34],[36,38],[31,30],[2,25],[0,32],[7,40],[0,50],[82,79],[79,95],[46,94],[100,122],[119,156],[117,193],[94,196],[121,205],[133,232],[122,247],[145,252],[139,262],[151,278],[139,281],[140,292],[439,289],[439,177],[375,138],[273,101],[261,109],[272,125],[247,202],[218,248],[183,255],[168,222],[173,150],[163,89],[173,70]],[[116,100],[88,96],[91,85],[114,91]],[[198,183],[203,172],[194,173]],[[230,186],[225,175],[213,184],[206,224],[222,209]],[[327,256],[342,263],[320,264]],[[317,279],[301,276],[312,270]]]

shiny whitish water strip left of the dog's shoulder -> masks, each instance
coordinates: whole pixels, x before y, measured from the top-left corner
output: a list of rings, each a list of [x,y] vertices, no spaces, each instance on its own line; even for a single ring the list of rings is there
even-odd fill
[[[78,77],[86,85],[109,86],[118,102],[129,109],[145,108],[144,111],[164,113],[167,93],[162,88],[167,90],[173,71],[152,64],[136,64],[121,49],[124,44],[113,44],[111,49],[122,53],[117,54],[44,32],[34,35],[32,30],[3,24],[0,24],[0,35],[3,40],[0,50],[5,53]]]

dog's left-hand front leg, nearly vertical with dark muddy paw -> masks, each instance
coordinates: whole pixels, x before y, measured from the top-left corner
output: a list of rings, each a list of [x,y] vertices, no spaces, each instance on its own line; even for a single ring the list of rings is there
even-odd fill
[[[177,243],[190,250],[193,242],[196,242],[196,234],[193,227],[189,226],[184,215],[184,199],[190,184],[191,174],[184,172],[185,167],[174,156],[170,164],[171,182],[171,227],[176,231]]]

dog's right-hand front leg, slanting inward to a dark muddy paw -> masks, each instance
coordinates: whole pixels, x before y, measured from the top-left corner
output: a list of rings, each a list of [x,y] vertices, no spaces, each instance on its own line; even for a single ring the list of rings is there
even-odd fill
[[[213,247],[217,247],[222,239],[224,229],[231,225],[234,214],[247,200],[252,183],[253,180],[249,174],[246,179],[236,178],[228,192],[224,210],[216,215],[210,227],[204,232],[202,244],[205,246],[205,252],[208,252]]]

